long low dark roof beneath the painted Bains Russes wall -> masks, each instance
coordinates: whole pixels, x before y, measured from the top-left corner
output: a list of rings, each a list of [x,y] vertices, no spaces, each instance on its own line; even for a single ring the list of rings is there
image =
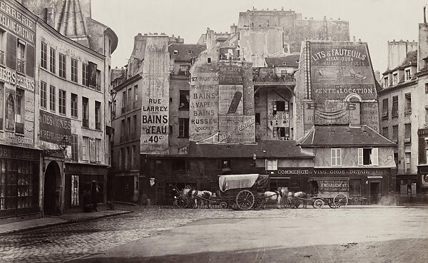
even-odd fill
[[[204,158],[313,158],[302,153],[294,140],[259,140],[255,144],[197,144],[189,143],[188,156]]]

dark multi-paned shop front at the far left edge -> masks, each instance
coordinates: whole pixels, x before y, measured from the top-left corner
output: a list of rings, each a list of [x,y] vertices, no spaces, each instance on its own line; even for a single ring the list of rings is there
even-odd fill
[[[40,151],[0,145],[0,218],[40,215]]]

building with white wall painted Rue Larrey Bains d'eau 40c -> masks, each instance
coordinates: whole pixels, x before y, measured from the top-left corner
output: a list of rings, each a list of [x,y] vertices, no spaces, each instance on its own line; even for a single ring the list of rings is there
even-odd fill
[[[138,200],[144,180],[140,154],[178,155],[189,143],[189,69],[205,46],[183,42],[139,33],[126,69],[112,78],[116,200]]]

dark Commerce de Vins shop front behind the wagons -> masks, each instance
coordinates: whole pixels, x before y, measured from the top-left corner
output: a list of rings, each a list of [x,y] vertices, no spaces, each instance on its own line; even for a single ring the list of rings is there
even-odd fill
[[[371,204],[381,202],[384,195],[393,191],[394,182],[389,168],[349,167],[279,167],[270,173],[270,184],[285,185],[289,191],[311,192],[310,178],[347,177],[349,196],[365,197]]]

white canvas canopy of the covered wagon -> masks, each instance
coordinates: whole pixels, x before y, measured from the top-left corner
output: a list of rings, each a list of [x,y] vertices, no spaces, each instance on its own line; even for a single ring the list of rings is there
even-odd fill
[[[222,192],[239,188],[263,189],[267,187],[268,181],[269,175],[259,175],[257,173],[247,175],[220,175],[218,177],[218,186]]]

